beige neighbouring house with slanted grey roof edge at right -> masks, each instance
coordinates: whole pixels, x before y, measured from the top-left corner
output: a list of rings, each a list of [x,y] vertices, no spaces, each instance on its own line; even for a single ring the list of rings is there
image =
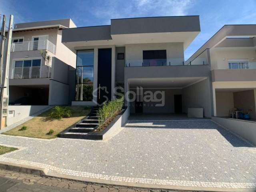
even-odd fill
[[[233,108],[256,119],[256,25],[225,25],[187,62],[210,52],[213,116],[230,116]],[[193,62],[194,62],[193,61]]]

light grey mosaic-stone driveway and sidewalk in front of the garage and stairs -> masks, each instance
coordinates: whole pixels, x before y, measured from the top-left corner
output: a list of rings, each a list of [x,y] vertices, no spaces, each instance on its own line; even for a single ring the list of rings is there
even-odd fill
[[[179,186],[256,187],[256,148],[210,120],[130,120],[107,142],[0,136],[1,161],[50,172]]]

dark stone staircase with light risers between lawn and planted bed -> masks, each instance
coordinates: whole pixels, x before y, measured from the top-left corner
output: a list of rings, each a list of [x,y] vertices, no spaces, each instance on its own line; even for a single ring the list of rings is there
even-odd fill
[[[99,108],[99,106],[92,107],[87,119],[81,120],[74,127],[68,128],[66,131],[60,133],[59,137],[72,139],[94,139],[95,137],[95,139],[97,139],[96,136],[90,134],[98,127],[99,121],[97,112]]]

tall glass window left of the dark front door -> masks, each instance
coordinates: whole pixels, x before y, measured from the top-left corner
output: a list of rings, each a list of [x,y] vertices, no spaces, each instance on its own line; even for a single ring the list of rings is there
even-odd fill
[[[78,50],[76,54],[76,100],[92,101],[94,50]]]

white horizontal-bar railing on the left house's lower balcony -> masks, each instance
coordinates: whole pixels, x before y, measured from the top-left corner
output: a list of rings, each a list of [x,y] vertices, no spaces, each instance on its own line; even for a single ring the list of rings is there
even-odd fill
[[[10,79],[50,78],[52,66],[10,68]]]

